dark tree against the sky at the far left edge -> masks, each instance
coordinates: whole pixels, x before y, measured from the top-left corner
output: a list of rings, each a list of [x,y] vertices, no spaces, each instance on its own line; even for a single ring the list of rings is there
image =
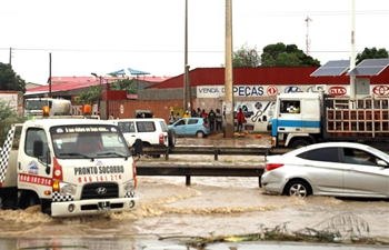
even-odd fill
[[[26,81],[13,71],[9,63],[0,62],[0,90],[14,90],[26,93]]]

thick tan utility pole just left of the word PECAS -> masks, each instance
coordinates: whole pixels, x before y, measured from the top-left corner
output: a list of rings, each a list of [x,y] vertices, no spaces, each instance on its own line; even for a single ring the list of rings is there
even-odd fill
[[[225,137],[232,138],[233,126],[233,76],[232,76],[232,0],[226,0],[226,68],[225,68]]]

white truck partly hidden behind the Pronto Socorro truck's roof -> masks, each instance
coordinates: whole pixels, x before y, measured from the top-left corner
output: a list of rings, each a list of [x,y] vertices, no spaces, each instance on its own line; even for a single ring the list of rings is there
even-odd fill
[[[41,117],[42,108],[44,106],[50,108],[50,116],[71,114],[71,102],[69,100],[53,98],[27,98],[24,100],[26,120],[33,117]]]

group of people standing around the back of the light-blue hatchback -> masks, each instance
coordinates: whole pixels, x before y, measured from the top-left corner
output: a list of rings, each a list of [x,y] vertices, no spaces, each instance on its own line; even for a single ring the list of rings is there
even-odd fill
[[[209,129],[212,131],[222,131],[222,114],[220,109],[217,109],[216,111],[213,111],[213,109],[210,109],[209,112],[207,112],[205,109],[200,109],[198,108],[192,109],[191,112],[189,112],[188,110],[184,112],[184,114],[182,116],[182,118],[190,118],[190,117],[200,117],[206,119],[209,122]],[[172,124],[176,121],[180,120],[180,113],[177,112],[177,114],[174,116],[174,112],[171,111],[170,116],[169,116],[169,123]]]

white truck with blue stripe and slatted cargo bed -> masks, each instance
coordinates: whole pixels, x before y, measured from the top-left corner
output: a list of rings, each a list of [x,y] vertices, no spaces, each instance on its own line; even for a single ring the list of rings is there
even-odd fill
[[[272,147],[299,148],[322,141],[379,143],[389,140],[388,98],[333,97],[321,92],[277,97]]]

